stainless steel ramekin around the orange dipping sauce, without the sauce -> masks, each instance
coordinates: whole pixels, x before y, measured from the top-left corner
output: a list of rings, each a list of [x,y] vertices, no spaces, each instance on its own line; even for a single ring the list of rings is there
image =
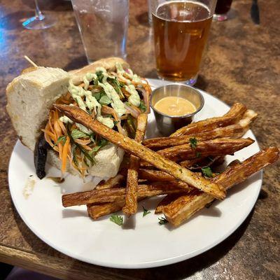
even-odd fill
[[[164,97],[182,97],[192,102],[197,110],[193,113],[184,116],[169,116],[155,109],[155,104]],[[202,94],[194,87],[183,85],[180,83],[172,83],[164,85],[153,90],[151,94],[151,107],[155,113],[158,130],[164,136],[169,136],[179,128],[190,124],[193,121],[193,116],[198,113],[204,106],[204,98]]]

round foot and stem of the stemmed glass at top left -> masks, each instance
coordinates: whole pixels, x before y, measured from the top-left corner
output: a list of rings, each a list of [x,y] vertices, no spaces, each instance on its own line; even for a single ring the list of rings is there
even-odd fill
[[[22,22],[22,26],[27,29],[46,29],[55,25],[55,18],[52,15],[43,15],[39,6],[38,0],[35,0],[35,15],[32,18]]]

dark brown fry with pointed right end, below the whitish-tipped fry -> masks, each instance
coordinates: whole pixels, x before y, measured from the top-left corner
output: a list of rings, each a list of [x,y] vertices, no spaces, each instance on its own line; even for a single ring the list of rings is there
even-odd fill
[[[164,150],[158,151],[158,153],[169,160],[178,162],[180,160],[193,159],[198,153],[202,158],[209,155],[232,155],[236,151],[251,145],[253,142],[253,139],[250,138],[218,138],[208,141],[197,141],[196,148],[193,148],[190,144],[183,144],[180,146],[165,148]]]

